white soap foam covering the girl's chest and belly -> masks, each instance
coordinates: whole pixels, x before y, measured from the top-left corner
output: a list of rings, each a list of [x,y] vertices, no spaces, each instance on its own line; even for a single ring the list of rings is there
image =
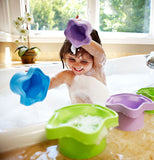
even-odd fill
[[[93,103],[104,106],[109,91],[107,87],[91,76],[76,76],[70,88],[72,103]],[[80,101],[79,101],[80,100]]]

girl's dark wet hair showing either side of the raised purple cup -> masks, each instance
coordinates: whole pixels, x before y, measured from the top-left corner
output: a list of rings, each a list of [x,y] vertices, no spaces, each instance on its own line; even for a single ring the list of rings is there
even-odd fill
[[[101,45],[101,40],[99,38],[99,35],[98,35],[98,32],[93,29],[92,32],[91,32],[91,38],[93,41],[99,43]],[[60,59],[62,61],[62,64],[63,64],[63,68],[64,68],[64,57],[65,57],[65,54],[67,53],[70,53],[70,54],[73,54],[73,52],[71,51],[71,46],[72,44],[70,43],[70,41],[68,39],[65,39],[64,43],[63,43],[63,46],[60,50]],[[79,49],[79,48],[77,48]]]

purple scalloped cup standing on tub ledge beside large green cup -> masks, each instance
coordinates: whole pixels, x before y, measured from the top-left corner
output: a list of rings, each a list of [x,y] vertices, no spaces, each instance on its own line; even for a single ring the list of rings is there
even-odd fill
[[[154,109],[151,99],[131,93],[112,95],[105,105],[118,112],[119,126],[117,128],[125,131],[141,129],[144,125],[144,111]]]

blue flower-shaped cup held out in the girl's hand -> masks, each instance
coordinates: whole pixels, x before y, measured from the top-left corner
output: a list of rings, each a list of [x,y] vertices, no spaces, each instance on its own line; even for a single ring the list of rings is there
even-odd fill
[[[39,68],[31,67],[27,73],[18,72],[11,78],[10,89],[20,95],[21,104],[30,106],[45,99],[49,84],[49,76]]]

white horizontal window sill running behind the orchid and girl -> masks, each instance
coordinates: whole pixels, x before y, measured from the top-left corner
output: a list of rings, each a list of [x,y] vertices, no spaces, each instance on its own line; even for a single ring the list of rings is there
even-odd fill
[[[153,45],[154,37],[149,34],[140,33],[99,33],[102,44],[145,44]],[[14,42],[18,38],[5,32],[0,32],[0,42]],[[65,36],[63,31],[32,32],[30,41],[33,43],[63,43]]]

